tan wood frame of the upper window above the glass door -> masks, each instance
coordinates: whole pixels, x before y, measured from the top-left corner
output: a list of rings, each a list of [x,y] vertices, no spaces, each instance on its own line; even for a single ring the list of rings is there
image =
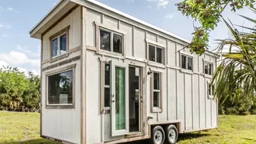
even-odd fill
[[[125,59],[126,56],[126,32],[123,30],[119,30],[114,27],[109,27],[104,24],[98,23],[94,21],[95,27],[96,27],[96,38],[95,38],[95,45],[96,45],[96,53],[104,56],[111,56],[111,57],[117,57],[120,59]],[[110,33],[110,51],[108,50],[102,50],[101,49],[101,30],[104,30],[108,33]],[[113,51],[114,45],[114,34],[117,34],[118,36],[122,37],[122,53],[116,53]]]

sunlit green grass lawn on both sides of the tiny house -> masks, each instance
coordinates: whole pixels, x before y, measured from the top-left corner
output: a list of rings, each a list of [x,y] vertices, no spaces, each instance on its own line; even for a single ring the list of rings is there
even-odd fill
[[[40,138],[39,120],[37,113],[0,111],[0,143],[55,144]],[[178,143],[256,143],[256,116],[219,116],[219,131],[223,134],[217,130],[181,134]]]

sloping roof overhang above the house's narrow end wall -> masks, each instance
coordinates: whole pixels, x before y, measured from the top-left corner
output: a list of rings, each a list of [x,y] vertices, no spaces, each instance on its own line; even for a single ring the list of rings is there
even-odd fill
[[[59,3],[30,30],[30,37],[41,39],[42,34],[53,24],[56,24],[68,11],[72,10],[75,5],[77,4],[70,0],[59,1]]]

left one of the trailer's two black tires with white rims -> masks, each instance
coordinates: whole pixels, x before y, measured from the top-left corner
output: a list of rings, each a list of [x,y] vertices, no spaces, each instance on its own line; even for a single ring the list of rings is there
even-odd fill
[[[151,144],[164,144],[165,143],[165,131],[161,126],[155,126],[151,132]]]

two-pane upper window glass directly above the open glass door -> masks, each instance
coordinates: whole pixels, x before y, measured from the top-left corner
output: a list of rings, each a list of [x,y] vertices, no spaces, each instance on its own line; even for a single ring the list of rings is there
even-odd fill
[[[114,53],[123,53],[123,35],[100,29],[100,49]]]

